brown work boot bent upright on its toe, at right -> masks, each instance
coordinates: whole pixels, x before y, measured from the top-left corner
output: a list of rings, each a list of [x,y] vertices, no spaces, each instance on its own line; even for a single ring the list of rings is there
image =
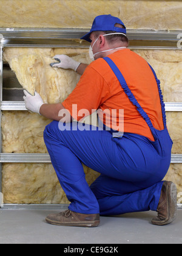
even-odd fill
[[[176,218],[177,188],[175,183],[164,181],[157,212],[157,217],[152,219],[152,224],[154,225],[166,225]]]

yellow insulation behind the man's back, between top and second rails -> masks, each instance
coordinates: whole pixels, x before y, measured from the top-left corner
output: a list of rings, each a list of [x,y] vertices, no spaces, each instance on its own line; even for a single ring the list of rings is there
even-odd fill
[[[155,69],[164,102],[182,101],[182,51],[135,50]]]

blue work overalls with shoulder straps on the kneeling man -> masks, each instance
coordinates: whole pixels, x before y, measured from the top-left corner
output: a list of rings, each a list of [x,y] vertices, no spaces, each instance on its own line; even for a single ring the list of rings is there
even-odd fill
[[[150,67],[157,80],[164,130],[153,127],[115,63],[109,57],[104,60],[145,119],[155,141],[126,132],[121,138],[113,138],[111,132],[99,130],[98,127],[92,129],[87,124],[84,130],[79,130],[77,122],[66,124],[65,130],[59,130],[59,122],[53,121],[44,130],[44,141],[52,165],[70,201],[69,209],[74,212],[120,215],[156,211],[163,185],[161,180],[169,168],[172,148],[172,140],[166,128],[160,81]],[[82,163],[101,173],[90,187]]]

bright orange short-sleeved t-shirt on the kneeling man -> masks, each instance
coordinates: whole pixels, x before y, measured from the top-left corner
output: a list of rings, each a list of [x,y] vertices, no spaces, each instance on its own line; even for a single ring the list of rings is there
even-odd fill
[[[126,84],[149,116],[153,127],[163,130],[163,116],[157,82],[146,60],[135,52],[130,51],[130,49],[121,49],[108,55],[108,57],[120,69]],[[76,112],[72,112],[73,104],[77,104]],[[78,116],[79,110],[82,109],[88,110],[90,114],[93,113],[92,110],[98,109],[103,111],[107,109],[110,110],[110,113],[112,113],[112,110],[117,110],[117,119],[119,119],[118,110],[124,110],[124,126],[121,129],[120,126],[112,126],[111,119],[107,120],[107,115],[106,117],[104,116],[103,123],[107,126],[110,123],[111,128],[114,130],[136,133],[153,140],[146,121],[135,105],[130,102],[112,69],[102,58],[87,66],[75,89],[62,102],[62,105],[78,121],[83,118],[82,115]],[[118,122],[117,120],[116,124]]]

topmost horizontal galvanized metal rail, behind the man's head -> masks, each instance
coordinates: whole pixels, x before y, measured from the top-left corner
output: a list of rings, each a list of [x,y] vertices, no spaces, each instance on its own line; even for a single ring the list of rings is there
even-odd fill
[[[4,47],[71,48],[89,47],[89,42],[80,40],[89,29],[28,29],[0,28]],[[131,49],[178,49],[178,30],[127,30]]]

